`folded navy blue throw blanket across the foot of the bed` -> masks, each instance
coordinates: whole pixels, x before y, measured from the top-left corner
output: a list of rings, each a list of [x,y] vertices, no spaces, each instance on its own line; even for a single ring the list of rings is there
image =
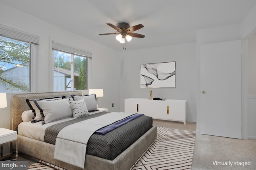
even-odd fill
[[[111,125],[108,125],[106,127],[100,128],[99,130],[95,131],[94,133],[95,134],[104,135],[104,134],[106,134],[106,133],[108,133],[108,132],[110,132],[110,131],[112,131],[112,130],[114,130],[114,129],[116,129],[116,128],[118,128],[118,127],[120,127],[120,126],[122,126],[122,125],[124,125],[124,124],[126,124],[126,123],[128,123],[130,121],[132,121],[132,120],[134,120],[134,119],[136,119],[137,117],[142,116],[142,115],[144,115],[144,114],[134,114],[134,115],[131,115],[131,116],[126,117],[126,118],[124,118],[124,119],[122,119],[120,121],[112,123]]]

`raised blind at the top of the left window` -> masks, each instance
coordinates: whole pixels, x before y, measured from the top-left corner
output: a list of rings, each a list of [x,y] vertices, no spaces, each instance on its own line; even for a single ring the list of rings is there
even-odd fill
[[[0,24],[0,36],[11,38],[14,40],[32,43],[32,44],[39,44],[39,36],[36,36],[34,34],[30,34],[27,32],[23,32],[20,30],[16,30],[14,28],[10,28],[7,26],[3,26]]]

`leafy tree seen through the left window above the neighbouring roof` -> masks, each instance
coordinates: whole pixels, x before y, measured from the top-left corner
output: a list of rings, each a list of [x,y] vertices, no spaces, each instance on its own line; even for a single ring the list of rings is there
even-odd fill
[[[3,84],[6,90],[9,88],[29,91],[29,85],[20,79],[2,76],[5,70],[22,65],[29,67],[30,63],[30,44],[4,38],[0,36],[0,85]],[[15,66],[14,66],[15,65]]]

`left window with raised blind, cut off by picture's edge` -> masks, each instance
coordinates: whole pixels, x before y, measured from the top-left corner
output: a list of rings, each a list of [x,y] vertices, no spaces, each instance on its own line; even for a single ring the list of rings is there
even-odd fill
[[[31,91],[30,60],[38,48],[32,35],[0,25],[0,92]],[[34,43],[33,43],[34,42]]]

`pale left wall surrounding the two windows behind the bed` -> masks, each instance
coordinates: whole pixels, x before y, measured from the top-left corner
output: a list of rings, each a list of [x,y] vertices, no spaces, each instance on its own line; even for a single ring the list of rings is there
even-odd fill
[[[40,37],[39,56],[32,66],[35,68],[34,73],[36,75],[32,80],[32,83],[34,83],[32,92],[52,91],[51,75],[53,70],[51,65],[53,60],[49,54],[51,50],[50,40],[55,40],[70,47],[92,52],[92,82],[90,88],[104,89],[104,97],[99,99],[99,107],[108,108],[109,111],[119,111],[120,57],[117,51],[2,3],[0,3],[0,24]],[[7,96],[8,107],[0,109],[0,127],[10,128],[11,95],[8,93]],[[110,107],[110,102],[115,103],[114,108]]]

